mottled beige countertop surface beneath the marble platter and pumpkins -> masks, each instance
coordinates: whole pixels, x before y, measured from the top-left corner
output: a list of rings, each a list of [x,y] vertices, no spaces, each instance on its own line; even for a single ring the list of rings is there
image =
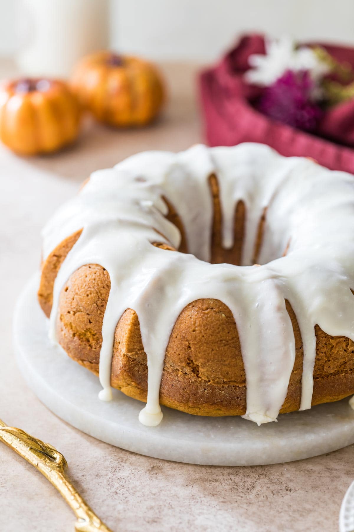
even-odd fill
[[[55,445],[77,488],[114,531],[335,531],[342,497],[354,478],[354,446],[262,467],[204,467],[146,458],[58,419],[25,386],[16,367],[12,313],[23,285],[38,268],[39,231],[53,209],[93,170],[144,149],[178,151],[202,140],[193,96],[195,68],[169,65],[164,70],[170,101],[149,128],[118,132],[87,123],[76,146],[33,159],[19,159],[0,148],[0,418]],[[55,488],[4,445],[0,519],[2,532],[64,532],[74,526],[73,514]]]

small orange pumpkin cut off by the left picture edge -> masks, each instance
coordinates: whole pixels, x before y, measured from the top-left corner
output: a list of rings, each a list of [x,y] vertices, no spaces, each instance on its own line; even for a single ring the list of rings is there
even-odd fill
[[[54,152],[75,140],[80,104],[52,79],[18,79],[0,87],[0,139],[21,155]]]

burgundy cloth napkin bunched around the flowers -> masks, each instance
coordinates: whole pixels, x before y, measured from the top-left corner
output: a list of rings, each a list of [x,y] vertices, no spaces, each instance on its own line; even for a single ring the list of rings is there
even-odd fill
[[[317,43],[354,68],[354,48]],[[200,76],[206,138],[211,146],[240,142],[268,144],[286,156],[313,157],[331,170],[354,173],[354,100],[333,106],[314,134],[274,121],[252,105],[262,89],[247,85],[248,57],[265,52],[264,37],[248,35]]]

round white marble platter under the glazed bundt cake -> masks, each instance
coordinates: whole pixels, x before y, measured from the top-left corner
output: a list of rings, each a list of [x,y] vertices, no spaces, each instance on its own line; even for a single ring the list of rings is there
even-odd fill
[[[18,365],[40,401],[84,433],[135,453],[203,465],[290,462],[354,443],[348,399],[282,414],[277,423],[260,427],[240,417],[198,417],[165,407],[158,427],[141,425],[140,401],[118,390],[110,403],[100,401],[98,378],[49,342],[48,320],[37,302],[38,282],[33,276],[15,309]]]

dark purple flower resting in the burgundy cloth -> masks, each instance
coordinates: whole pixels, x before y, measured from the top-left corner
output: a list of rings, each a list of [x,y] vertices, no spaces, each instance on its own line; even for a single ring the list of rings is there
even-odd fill
[[[315,84],[307,70],[287,70],[281,78],[264,89],[258,109],[268,117],[289,126],[312,131],[322,117],[314,102]]]

